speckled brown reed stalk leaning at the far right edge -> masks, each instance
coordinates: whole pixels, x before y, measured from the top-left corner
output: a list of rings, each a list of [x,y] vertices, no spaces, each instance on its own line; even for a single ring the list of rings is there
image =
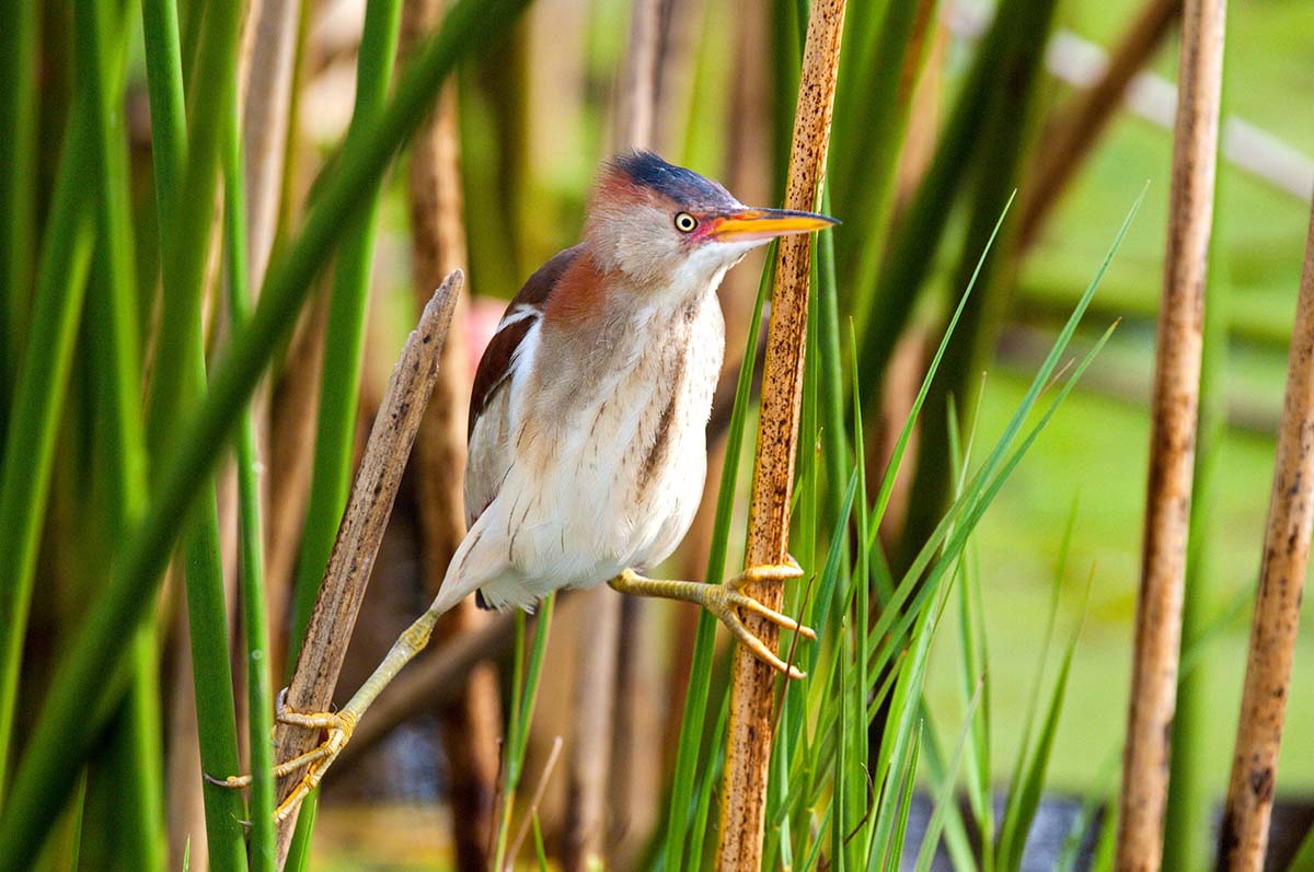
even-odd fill
[[[1273,494],[1255,594],[1250,658],[1240,700],[1227,805],[1218,840],[1218,868],[1264,868],[1273,812],[1277,752],[1290,692],[1301,595],[1314,523],[1314,211],[1305,242],[1301,293],[1292,328],[1286,399],[1277,431]]]

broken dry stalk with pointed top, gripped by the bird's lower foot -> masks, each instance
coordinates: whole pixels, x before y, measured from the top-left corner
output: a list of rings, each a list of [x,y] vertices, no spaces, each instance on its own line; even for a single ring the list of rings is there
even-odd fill
[[[328,566],[325,567],[319,595],[288,687],[286,703],[292,710],[326,712],[332,703],[338,674],[347,655],[374,556],[392,515],[406,458],[438,380],[439,355],[464,278],[463,273],[453,272],[434,292],[393,368],[365,456],[352,482],[347,510],[338,528],[338,538],[334,541]],[[315,747],[318,733],[280,724],[275,741],[275,759],[289,760]],[[292,792],[300,777],[301,772],[296,772],[279,781],[280,801]],[[279,823],[280,859],[286,856],[296,822],[297,814],[293,813]]]

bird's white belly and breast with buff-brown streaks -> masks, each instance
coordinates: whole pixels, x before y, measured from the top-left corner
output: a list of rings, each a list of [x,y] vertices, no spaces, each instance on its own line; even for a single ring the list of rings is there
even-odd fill
[[[495,582],[477,584],[490,601],[523,605],[654,567],[689,531],[724,323],[714,293],[670,322],[637,331],[657,344],[547,380],[510,410],[510,468],[476,525],[480,550],[501,552],[487,562],[501,563]]]

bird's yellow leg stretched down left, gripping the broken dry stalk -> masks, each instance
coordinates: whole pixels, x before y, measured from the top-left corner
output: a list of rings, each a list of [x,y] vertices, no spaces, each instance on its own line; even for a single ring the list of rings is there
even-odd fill
[[[275,720],[280,724],[310,730],[327,730],[328,735],[315,749],[273,767],[273,775],[280,779],[305,768],[305,774],[292,789],[292,793],[275,809],[273,818],[276,821],[288,819],[292,812],[306,798],[306,795],[319,785],[328,767],[338,759],[342,750],[347,747],[347,742],[351,741],[351,734],[356,730],[356,724],[360,722],[365,709],[388,687],[388,683],[397,676],[397,672],[428,645],[435,621],[438,621],[438,612],[428,611],[411,624],[393,642],[388,657],[374,668],[374,672],[360,686],[360,689],[356,691],[356,695],[351,697],[351,701],[340,712],[293,712],[286,704],[286,689],[279,695],[279,709]],[[226,779],[215,779],[206,775],[205,780],[210,784],[229,788],[243,788],[251,784],[250,775],[231,775]]]

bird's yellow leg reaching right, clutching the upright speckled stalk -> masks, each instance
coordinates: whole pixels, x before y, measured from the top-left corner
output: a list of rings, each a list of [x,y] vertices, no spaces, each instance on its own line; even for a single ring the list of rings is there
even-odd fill
[[[798,563],[792,562],[777,566],[750,566],[724,584],[645,578],[632,569],[627,569],[620,575],[611,579],[608,584],[612,590],[620,591],[622,594],[633,594],[635,596],[657,596],[661,599],[696,603],[725,624],[735,638],[748,647],[748,650],[753,651],[758,659],[769,663],[790,678],[804,678],[805,674],[802,670],[782,661],[777,657],[775,651],[769,649],[762,642],[762,640],[753,636],[748,628],[744,626],[744,621],[740,620],[738,616],[738,609],[753,612],[754,615],[765,617],[778,626],[794,630],[804,638],[815,640],[817,634],[811,628],[803,626],[788,615],[783,615],[773,608],[762,605],[759,601],[744,592],[744,588],[754,582],[783,582],[802,575],[803,570],[799,569]]]

